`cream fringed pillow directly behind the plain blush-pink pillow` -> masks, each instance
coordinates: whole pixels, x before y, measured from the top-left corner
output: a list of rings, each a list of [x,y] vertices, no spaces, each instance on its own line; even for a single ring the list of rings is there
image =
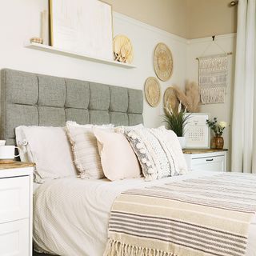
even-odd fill
[[[104,178],[93,129],[113,130],[113,127],[113,125],[78,125],[76,122],[66,122],[66,132],[70,138],[74,162],[81,178]]]

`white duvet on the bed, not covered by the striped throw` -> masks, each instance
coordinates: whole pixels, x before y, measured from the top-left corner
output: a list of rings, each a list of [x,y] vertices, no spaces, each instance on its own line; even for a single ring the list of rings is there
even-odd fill
[[[212,175],[193,172],[145,182],[143,178],[110,182],[61,178],[34,191],[35,250],[62,256],[102,256],[114,198],[131,188],[154,186],[183,178]],[[246,256],[256,256],[256,218],[250,225]]]

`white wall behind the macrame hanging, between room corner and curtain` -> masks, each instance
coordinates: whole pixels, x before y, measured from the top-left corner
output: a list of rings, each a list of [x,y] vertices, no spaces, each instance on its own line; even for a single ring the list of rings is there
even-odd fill
[[[226,34],[217,36],[215,38],[218,46],[225,52],[232,52],[229,56],[229,78],[226,90],[225,103],[206,104],[201,106],[201,112],[210,113],[212,118],[217,117],[218,121],[226,121],[230,125],[232,114],[232,98],[234,86],[234,59],[235,59],[235,34]],[[187,54],[187,74],[186,77],[190,80],[198,81],[198,60],[197,57],[202,56],[202,53],[212,42],[212,38],[199,38],[188,41],[188,54]],[[212,43],[204,55],[220,54],[222,50],[216,44]],[[230,126],[226,128],[223,133],[224,147],[229,149],[228,167],[230,166]]]

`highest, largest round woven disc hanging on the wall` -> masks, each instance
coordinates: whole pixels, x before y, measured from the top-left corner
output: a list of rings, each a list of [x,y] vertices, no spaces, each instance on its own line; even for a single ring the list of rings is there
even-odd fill
[[[173,55],[166,44],[159,42],[154,49],[154,72],[162,81],[170,79],[173,73]]]

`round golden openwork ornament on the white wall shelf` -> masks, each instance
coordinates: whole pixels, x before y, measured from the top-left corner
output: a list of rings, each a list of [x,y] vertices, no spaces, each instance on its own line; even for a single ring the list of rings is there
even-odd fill
[[[131,63],[134,59],[133,46],[130,39],[119,34],[114,38],[114,60],[117,62]]]

